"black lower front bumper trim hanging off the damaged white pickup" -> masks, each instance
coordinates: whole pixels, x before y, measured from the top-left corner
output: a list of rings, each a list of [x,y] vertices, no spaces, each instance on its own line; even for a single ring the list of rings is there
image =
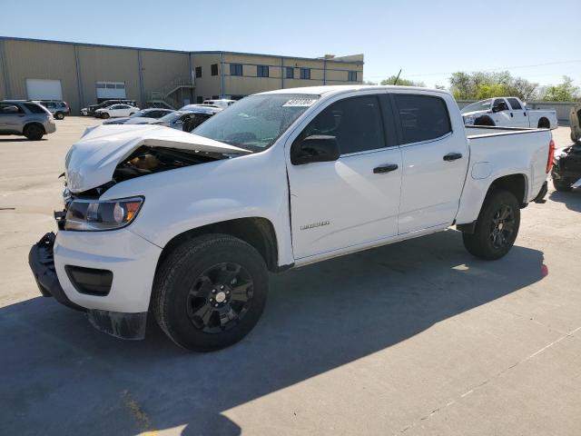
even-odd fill
[[[28,253],[28,264],[34,274],[39,291],[44,297],[54,297],[57,302],[77,311],[83,311],[95,329],[120,339],[141,340],[145,337],[147,312],[125,313],[86,309],[72,302],[61,286],[54,267],[54,233],[46,233]]]

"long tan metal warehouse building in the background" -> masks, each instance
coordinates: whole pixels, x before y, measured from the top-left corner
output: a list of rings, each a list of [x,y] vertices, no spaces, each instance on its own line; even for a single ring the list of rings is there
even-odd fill
[[[363,54],[304,58],[0,37],[0,99],[64,100],[73,114],[110,98],[177,108],[279,88],[360,84],[362,78]]]

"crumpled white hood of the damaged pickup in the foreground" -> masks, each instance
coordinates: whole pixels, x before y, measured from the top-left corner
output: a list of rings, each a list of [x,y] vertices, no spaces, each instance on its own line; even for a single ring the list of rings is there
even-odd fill
[[[82,193],[110,182],[117,164],[142,145],[208,153],[249,154],[248,150],[151,124],[89,127],[65,158],[67,187]]]

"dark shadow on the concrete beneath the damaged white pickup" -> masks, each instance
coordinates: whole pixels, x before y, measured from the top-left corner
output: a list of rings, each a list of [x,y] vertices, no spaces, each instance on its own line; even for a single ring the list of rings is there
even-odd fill
[[[543,253],[497,262],[448,231],[285,272],[251,334],[221,352],[184,352],[156,328],[143,342],[95,332],[35,298],[0,310],[6,434],[240,434],[233,407],[385,350],[436,322],[542,279]],[[31,279],[32,282],[32,279]]]

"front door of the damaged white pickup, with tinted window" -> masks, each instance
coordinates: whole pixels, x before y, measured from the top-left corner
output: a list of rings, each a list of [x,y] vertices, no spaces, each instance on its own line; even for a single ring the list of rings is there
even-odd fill
[[[286,155],[295,259],[398,234],[401,154],[392,122],[387,94],[368,94],[329,104],[291,136]],[[334,136],[339,159],[292,164],[291,144],[313,135]]]

